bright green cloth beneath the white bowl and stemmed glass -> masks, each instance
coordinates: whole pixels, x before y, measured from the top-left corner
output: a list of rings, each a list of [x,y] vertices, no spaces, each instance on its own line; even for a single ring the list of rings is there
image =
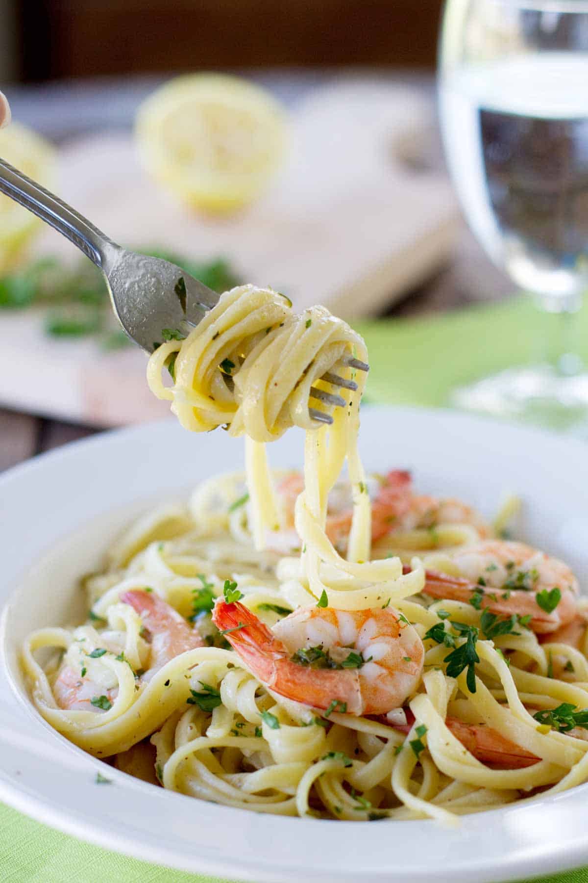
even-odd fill
[[[457,383],[539,360],[547,323],[527,300],[480,306],[424,320],[361,323],[372,402],[439,406]],[[588,357],[588,307],[577,317],[578,350]],[[236,869],[235,869],[236,870]],[[4,883],[218,883],[90,846],[0,805],[0,879]],[[587,883],[588,869],[544,878]]]

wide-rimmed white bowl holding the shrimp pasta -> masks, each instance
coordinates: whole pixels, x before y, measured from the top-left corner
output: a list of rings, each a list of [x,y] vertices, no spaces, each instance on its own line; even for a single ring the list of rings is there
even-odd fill
[[[366,408],[368,469],[413,470],[417,486],[462,496],[488,516],[505,492],[525,502],[525,538],[588,585],[588,448],[569,438],[443,411]],[[17,649],[26,632],[83,609],[75,587],[128,518],[242,466],[242,442],[175,422],[77,442],[0,480],[0,799],[86,841],[186,871],[312,883],[486,883],[588,864],[588,786],[461,819],[377,825],[286,819],[203,803],[108,769],[42,721]],[[272,445],[301,464],[302,437]],[[70,614],[68,616],[68,613]]]

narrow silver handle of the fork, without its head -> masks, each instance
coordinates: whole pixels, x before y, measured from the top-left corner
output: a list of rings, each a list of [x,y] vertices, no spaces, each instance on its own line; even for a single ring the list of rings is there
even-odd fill
[[[77,245],[80,252],[101,269],[105,269],[112,249],[118,250],[119,246],[83,215],[3,159],[0,159],[0,192],[28,208],[29,212]]]

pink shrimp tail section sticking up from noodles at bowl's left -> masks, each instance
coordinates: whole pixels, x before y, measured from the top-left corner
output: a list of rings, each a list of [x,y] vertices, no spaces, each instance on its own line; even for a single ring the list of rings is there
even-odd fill
[[[141,617],[147,631],[145,640],[151,644],[149,664],[143,680],[150,680],[166,662],[204,645],[200,633],[190,627],[177,610],[153,592],[133,589],[121,595],[124,604],[130,604]]]

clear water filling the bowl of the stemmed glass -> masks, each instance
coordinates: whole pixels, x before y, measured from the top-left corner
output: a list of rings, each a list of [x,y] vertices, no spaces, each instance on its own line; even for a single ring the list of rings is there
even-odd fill
[[[524,289],[569,308],[588,287],[588,57],[464,66],[441,80],[443,136],[468,221]]]

